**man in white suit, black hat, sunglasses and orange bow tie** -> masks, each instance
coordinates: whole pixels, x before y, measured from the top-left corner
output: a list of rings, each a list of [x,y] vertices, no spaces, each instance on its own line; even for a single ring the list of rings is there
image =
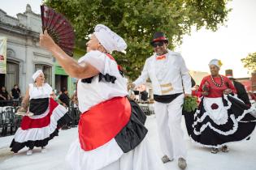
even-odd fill
[[[132,86],[150,78],[163,163],[178,159],[178,166],[184,169],[186,147],[180,122],[184,97],[191,96],[191,77],[180,53],[167,49],[168,40],[163,32],[156,32],[150,44],[155,53],[146,59],[141,76]]]

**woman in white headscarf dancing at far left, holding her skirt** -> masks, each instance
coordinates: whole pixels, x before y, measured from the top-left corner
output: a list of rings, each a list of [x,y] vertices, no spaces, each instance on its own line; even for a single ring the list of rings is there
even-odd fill
[[[53,89],[45,83],[42,70],[33,74],[33,80],[34,83],[29,84],[18,110],[27,113],[10,146],[15,153],[28,147],[27,155],[33,154],[34,147],[41,147],[42,152],[46,151],[45,147],[50,139],[58,136],[59,128],[71,121],[67,109],[50,97]]]

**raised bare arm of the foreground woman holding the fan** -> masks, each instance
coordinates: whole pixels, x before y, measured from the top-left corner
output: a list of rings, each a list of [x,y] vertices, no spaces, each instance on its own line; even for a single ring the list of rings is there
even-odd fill
[[[40,35],[40,45],[41,47],[48,49],[59,62],[59,65],[62,66],[67,72],[67,74],[74,78],[86,79],[99,74],[99,71],[95,67],[89,65],[89,63],[78,63],[75,59],[69,57],[67,53],[63,51],[63,49],[55,44],[54,40],[47,33],[47,30]]]

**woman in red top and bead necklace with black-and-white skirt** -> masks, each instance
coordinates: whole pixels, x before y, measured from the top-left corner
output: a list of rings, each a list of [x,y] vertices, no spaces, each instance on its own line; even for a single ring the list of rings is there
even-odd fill
[[[211,153],[228,152],[227,143],[249,138],[255,127],[251,109],[236,96],[232,82],[219,74],[221,62],[210,61],[210,75],[199,87],[202,101],[195,113],[191,138]]]

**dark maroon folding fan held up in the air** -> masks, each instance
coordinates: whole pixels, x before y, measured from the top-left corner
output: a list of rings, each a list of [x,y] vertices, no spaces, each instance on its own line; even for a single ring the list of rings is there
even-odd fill
[[[69,56],[73,56],[75,33],[67,19],[48,6],[41,6],[42,31],[47,30],[54,42]]]

